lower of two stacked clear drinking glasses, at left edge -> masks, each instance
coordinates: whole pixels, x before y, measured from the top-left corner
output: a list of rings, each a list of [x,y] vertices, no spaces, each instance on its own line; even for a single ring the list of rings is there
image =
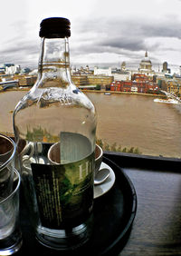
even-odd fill
[[[0,255],[12,255],[22,246],[19,228],[20,174],[14,169],[12,192],[0,202]]]

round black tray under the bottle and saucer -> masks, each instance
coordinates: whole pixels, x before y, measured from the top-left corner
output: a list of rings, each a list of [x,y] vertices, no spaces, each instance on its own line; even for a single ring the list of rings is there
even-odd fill
[[[69,255],[117,255],[129,239],[137,211],[135,188],[117,164],[105,157],[103,162],[110,165],[114,171],[115,184],[109,192],[94,201],[94,229],[89,243]],[[21,250],[15,255],[33,255],[35,251],[40,251],[42,256],[68,255],[62,251],[52,251],[36,241],[23,201],[20,216],[24,242]]]

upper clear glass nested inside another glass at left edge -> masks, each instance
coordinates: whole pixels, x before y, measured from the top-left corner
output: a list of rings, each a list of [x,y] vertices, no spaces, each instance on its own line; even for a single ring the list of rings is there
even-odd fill
[[[4,134],[0,134],[0,201],[13,189],[14,155],[14,141]]]

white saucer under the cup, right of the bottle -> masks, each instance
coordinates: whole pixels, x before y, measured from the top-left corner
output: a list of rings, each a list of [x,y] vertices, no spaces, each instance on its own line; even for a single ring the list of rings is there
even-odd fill
[[[100,185],[94,185],[94,199],[100,197],[106,192],[109,192],[111,187],[114,185],[116,179],[113,170],[108,164],[106,164],[105,162],[101,162],[100,169],[101,168],[108,168],[110,170],[110,176],[105,182],[101,183]]]

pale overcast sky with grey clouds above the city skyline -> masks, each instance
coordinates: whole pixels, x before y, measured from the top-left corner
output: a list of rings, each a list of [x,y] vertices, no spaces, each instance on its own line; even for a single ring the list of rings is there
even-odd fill
[[[71,64],[181,65],[181,0],[9,0],[1,3],[0,64],[37,67],[43,18],[71,21]]]

